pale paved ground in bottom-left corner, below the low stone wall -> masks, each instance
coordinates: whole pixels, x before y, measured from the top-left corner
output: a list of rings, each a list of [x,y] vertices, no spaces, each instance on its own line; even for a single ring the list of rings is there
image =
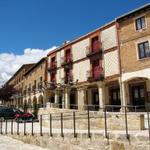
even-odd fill
[[[48,150],[0,135],[0,150]]]

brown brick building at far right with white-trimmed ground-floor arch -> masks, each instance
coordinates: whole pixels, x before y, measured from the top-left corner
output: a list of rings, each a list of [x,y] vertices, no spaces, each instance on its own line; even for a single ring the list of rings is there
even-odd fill
[[[150,103],[150,4],[117,18],[123,105]]]

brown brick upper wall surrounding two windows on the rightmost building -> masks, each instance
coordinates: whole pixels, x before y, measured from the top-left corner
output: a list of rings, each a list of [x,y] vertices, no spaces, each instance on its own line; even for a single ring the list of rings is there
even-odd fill
[[[146,17],[147,28],[136,31],[135,19],[143,15]],[[147,11],[144,14],[137,14],[136,16],[121,22],[119,26],[122,72],[128,73],[149,68],[149,58],[139,60],[137,43],[145,40],[149,40],[150,43],[150,11]]]

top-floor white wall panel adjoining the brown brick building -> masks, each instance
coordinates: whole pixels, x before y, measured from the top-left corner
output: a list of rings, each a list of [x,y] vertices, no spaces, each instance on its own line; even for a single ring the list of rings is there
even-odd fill
[[[104,50],[117,46],[117,33],[115,25],[102,31],[101,41]]]

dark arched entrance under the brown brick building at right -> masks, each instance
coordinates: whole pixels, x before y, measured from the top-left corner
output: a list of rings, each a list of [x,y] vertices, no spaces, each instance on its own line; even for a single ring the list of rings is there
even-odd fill
[[[145,111],[148,105],[148,78],[131,77],[123,82],[126,104],[130,111]]]

